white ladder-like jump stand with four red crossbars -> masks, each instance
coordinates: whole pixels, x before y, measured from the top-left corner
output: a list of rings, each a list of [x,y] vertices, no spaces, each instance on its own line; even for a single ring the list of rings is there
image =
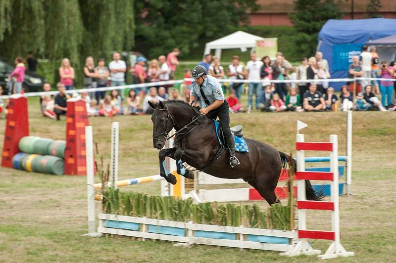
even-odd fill
[[[298,240],[292,252],[281,253],[285,256],[298,256],[301,254],[320,254],[320,250],[312,249],[307,239],[332,240],[326,253],[319,255],[320,259],[333,259],[338,256],[353,256],[353,252],[347,252],[340,242],[340,201],[338,184],[338,137],[330,135],[330,142],[304,142],[304,134],[297,134],[297,216],[298,216]],[[305,170],[305,151],[329,151],[330,172],[310,172]],[[305,180],[331,180],[331,201],[307,201],[305,196]],[[307,230],[306,210],[332,211],[332,230]]]

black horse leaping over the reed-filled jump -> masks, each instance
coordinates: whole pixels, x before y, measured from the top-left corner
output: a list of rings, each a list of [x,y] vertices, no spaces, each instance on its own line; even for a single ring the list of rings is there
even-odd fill
[[[183,166],[183,162],[219,178],[243,178],[253,186],[268,204],[278,203],[275,195],[281,169],[286,163],[296,162],[289,155],[277,151],[274,147],[245,137],[249,152],[236,153],[241,164],[231,168],[228,153],[220,151],[220,144],[215,134],[213,120],[198,113],[199,108],[183,101],[166,101],[151,103],[154,109],[153,147],[162,149],[167,134],[174,128],[176,132],[175,147],[159,151],[160,175],[172,183],[176,177],[166,170],[165,157],[177,161],[177,172],[187,178],[194,178],[192,172]],[[315,194],[309,180],[305,180],[307,200],[320,200]]]

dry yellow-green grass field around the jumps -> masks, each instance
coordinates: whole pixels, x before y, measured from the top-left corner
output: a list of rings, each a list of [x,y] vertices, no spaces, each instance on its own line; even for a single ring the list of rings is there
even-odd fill
[[[65,138],[65,122],[41,117],[36,98],[29,100],[31,135]],[[328,141],[339,134],[340,155],[345,152],[344,112],[235,114],[231,124],[242,124],[247,137],[293,153],[296,120],[307,141]],[[149,116],[118,116],[120,122],[119,178],[158,174],[152,148]],[[353,113],[352,192],[342,196],[341,242],[355,257],[334,262],[395,262],[396,194],[394,112]],[[110,119],[91,118],[99,152],[108,160]],[[5,120],[0,119],[2,149]],[[99,181],[99,179],[97,178]],[[129,189],[159,194],[159,182]],[[125,189],[126,190],[126,189]],[[260,202],[262,207],[267,204]],[[308,227],[330,229],[330,213],[308,213]],[[309,262],[316,257],[279,257],[277,252],[196,245],[174,248],[170,242],[143,242],[129,238],[88,238],[85,176],[55,176],[0,167],[0,262]],[[326,250],[329,242],[312,240]]]

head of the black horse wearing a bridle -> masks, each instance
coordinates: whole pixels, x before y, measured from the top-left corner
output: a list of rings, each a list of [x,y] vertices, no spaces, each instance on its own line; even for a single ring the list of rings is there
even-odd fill
[[[173,128],[173,120],[169,115],[168,108],[161,101],[159,103],[148,101],[148,104],[154,109],[154,113],[151,116],[153,123],[152,146],[159,150],[164,147],[166,135]]]

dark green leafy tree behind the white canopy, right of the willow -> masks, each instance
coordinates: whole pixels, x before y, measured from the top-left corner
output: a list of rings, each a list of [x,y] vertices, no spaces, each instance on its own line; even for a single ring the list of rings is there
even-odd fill
[[[135,1],[137,49],[156,57],[175,47],[189,54],[202,38],[222,37],[248,22],[255,0]]]

